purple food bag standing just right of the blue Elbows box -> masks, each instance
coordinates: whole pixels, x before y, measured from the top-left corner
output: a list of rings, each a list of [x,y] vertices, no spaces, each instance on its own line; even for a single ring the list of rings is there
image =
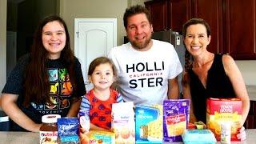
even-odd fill
[[[163,140],[182,142],[182,133],[189,122],[190,100],[173,99],[163,102]]]

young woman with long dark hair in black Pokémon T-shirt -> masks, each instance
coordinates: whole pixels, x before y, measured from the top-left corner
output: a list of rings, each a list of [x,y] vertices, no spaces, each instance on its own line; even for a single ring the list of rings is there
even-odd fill
[[[81,65],[70,49],[66,23],[54,15],[44,18],[30,54],[20,58],[2,90],[10,130],[37,132],[45,114],[75,117],[84,94]]]

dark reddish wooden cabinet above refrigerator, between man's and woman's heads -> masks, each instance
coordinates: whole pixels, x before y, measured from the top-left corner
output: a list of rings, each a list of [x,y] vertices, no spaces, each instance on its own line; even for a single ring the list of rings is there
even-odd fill
[[[150,10],[153,30],[174,30],[182,33],[182,25],[190,19],[190,0],[162,0],[145,2]]]

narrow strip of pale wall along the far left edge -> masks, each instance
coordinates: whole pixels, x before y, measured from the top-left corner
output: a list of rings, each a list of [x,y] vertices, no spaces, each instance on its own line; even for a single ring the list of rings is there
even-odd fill
[[[0,91],[6,83],[6,9],[7,0],[0,0]]]

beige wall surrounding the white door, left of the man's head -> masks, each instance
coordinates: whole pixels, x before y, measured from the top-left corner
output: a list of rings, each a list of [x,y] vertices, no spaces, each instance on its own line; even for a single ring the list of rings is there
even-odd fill
[[[126,0],[60,1],[60,15],[69,28],[72,48],[74,48],[74,18],[117,18],[117,45],[121,45],[123,36],[126,35],[122,25],[122,15],[126,7]]]

